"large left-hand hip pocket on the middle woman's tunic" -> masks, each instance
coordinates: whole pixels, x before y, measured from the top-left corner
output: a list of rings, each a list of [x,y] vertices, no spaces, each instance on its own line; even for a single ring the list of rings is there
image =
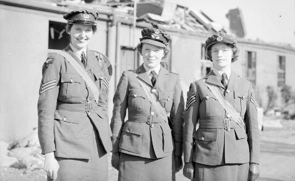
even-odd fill
[[[141,137],[143,134],[143,125],[137,122],[125,122],[119,147],[133,153],[141,153]]]

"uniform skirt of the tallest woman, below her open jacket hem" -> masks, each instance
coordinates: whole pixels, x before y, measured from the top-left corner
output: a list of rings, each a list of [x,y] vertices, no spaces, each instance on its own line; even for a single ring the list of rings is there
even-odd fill
[[[56,157],[59,164],[54,181],[107,181],[108,154],[105,152],[96,129],[93,127],[93,159]],[[47,181],[52,181],[47,176]]]

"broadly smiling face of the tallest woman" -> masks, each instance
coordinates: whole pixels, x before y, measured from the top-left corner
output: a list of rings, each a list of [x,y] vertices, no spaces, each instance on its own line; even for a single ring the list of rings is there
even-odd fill
[[[89,44],[89,40],[92,38],[92,25],[73,24],[68,33],[71,35],[72,45],[77,49],[82,49]]]

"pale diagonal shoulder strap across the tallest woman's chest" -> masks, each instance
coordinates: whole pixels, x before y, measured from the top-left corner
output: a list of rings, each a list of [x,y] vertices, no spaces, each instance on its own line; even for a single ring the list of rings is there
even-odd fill
[[[75,68],[75,70],[79,73],[79,75],[84,79],[84,81],[90,87],[90,90],[94,94],[96,103],[98,103],[99,90],[96,87],[94,81],[89,77],[85,69],[81,65],[79,65],[79,63],[67,52],[62,51],[62,52],[58,52],[58,54],[66,58],[66,60],[70,62],[70,64]]]

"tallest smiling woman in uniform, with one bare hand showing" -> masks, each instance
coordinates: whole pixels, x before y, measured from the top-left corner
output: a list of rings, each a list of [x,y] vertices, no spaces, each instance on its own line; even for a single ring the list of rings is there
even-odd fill
[[[97,12],[65,14],[69,45],[50,55],[42,68],[38,136],[47,180],[108,179],[112,150],[107,116],[109,60],[89,50]],[[84,75],[84,76],[82,76]]]

